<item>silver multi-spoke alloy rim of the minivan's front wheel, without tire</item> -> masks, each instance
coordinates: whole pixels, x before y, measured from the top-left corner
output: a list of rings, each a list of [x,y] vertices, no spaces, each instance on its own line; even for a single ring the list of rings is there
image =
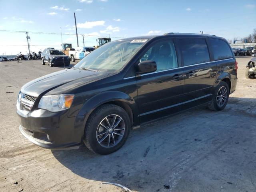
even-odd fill
[[[116,146],[123,138],[125,131],[124,120],[116,115],[108,115],[98,125],[96,138],[105,148]]]

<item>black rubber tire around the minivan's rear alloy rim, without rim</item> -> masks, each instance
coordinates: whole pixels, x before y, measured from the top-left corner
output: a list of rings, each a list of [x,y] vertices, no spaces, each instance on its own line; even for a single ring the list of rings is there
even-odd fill
[[[219,92],[220,88],[222,88],[222,87],[226,88],[227,94],[225,95],[226,96],[226,100],[225,100],[224,104],[222,106],[219,106],[218,102],[217,102],[217,99],[218,99],[217,96],[218,96],[218,92]],[[226,82],[224,82],[224,81],[221,81],[218,84],[218,86],[215,88],[212,101],[208,104],[208,108],[210,110],[213,110],[213,111],[221,111],[221,110],[223,110],[226,107],[227,103],[228,103],[229,93],[230,93],[230,90],[229,90],[228,84]],[[220,99],[222,99],[222,97]]]

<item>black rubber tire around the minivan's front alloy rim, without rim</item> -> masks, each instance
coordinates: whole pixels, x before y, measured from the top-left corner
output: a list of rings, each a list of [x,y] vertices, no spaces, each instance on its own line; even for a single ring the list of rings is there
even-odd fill
[[[98,132],[98,127],[100,126],[100,123],[105,119],[105,117],[111,116],[112,114],[118,115],[119,117],[122,118],[125,129],[124,129],[122,138],[119,141],[116,140],[118,141],[116,145],[112,147],[111,146],[104,147],[101,145],[103,142],[101,144],[98,142],[98,136],[96,135],[97,133],[100,133]],[[110,124],[112,123],[113,122],[110,122]],[[130,133],[130,127],[131,127],[130,118],[123,108],[113,104],[104,104],[96,108],[96,110],[94,110],[94,112],[92,112],[92,114],[88,118],[85,129],[84,129],[84,144],[89,150],[91,150],[96,154],[100,154],[100,155],[110,154],[112,152],[117,151],[124,145]],[[110,126],[110,128],[112,127]],[[106,131],[106,135],[109,134],[108,130],[104,130],[103,128],[102,132],[104,131]],[[103,135],[102,137],[106,135]],[[113,136],[113,133],[112,133],[112,136]],[[106,141],[108,141],[108,137],[106,139],[107,139]],[[110,140],[112,140],[112,138],[110,138],[109,136],[108,145],[110,143]],[[112,144],[113,144],[113,140],[112,140]]]

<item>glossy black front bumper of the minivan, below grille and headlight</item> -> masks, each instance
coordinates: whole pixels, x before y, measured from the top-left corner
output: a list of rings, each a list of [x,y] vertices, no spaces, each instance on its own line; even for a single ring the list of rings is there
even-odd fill
[[[76,126],[76,117],[68,117],[67,111],[49,112],[34,110],[24,114],[17,110],[19,130],[32,143],[48,149],[79,148],[84,128]]]

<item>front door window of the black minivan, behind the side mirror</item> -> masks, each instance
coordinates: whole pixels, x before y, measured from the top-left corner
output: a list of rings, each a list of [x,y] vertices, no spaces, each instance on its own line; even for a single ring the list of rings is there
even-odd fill
[[[140,62],[152,60],[156,62],[156,71],[178,67],[174,43],[172,40],[157,42],[140,58]]]

